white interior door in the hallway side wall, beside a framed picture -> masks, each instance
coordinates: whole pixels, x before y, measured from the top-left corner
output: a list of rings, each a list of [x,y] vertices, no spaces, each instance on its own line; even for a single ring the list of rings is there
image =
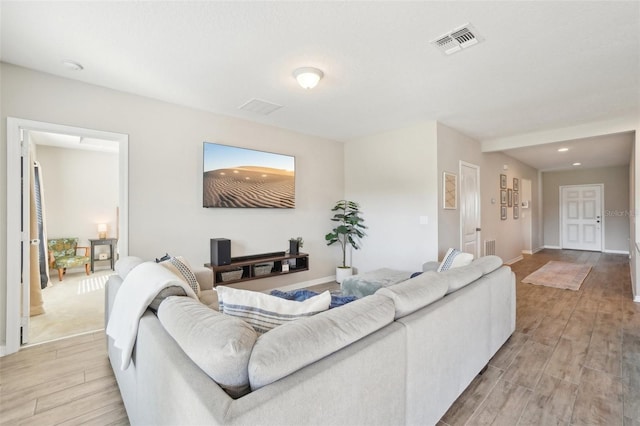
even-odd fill
[[[460,162],[461,250],[480,257],[480,167]]]

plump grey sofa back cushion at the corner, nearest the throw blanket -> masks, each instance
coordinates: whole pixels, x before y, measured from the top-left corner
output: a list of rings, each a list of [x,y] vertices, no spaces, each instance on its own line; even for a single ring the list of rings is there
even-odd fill
[[[158,319],[185,354],[231,397],[249,391],[247,367],[258,338],[251,326],[192,298],[176,296],[160,305]]]

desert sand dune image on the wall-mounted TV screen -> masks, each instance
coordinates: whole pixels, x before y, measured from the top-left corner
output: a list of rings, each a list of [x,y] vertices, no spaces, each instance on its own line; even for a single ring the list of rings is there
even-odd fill
[[[204,143],[204,207],[295,207],[295,158]]]

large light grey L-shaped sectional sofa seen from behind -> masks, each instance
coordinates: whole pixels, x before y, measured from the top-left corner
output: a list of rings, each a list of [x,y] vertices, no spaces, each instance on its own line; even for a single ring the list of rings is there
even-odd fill
[[[107,321],[129,269],[107,284]],[[208,273],[196,271],[201,300],[215,306]],[[515,330],[515,276],[496,256],[257,338],[205,303],[147,310],[125,370],[108,338],[131,424],[433,425]]]

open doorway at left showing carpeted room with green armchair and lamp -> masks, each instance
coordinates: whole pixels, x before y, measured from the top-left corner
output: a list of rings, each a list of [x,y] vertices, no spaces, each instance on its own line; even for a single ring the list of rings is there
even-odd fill
[[[37,226],[39,232],[37,246],[31,244],[32,297],[23,344],[37,344],[104,328],[104,285],[117,256],[119,144],[41,131],[29,131],[25,140],[35,167],[31,186],[38,189],[30,230]],[[50,246],[69,240],[76,241],[79,261],[93,261],[58,270],[55,262],[66,257]],[[107,240],[116,247],[113,255]]]

